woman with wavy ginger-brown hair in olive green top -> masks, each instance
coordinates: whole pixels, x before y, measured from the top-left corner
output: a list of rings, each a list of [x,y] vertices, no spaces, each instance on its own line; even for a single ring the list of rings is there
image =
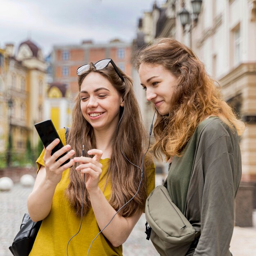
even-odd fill
[[[146,98],[157,109],[154,155],[171,163],[168,193],[199,238],[186,255],[231,255],[244,124],[202,62],[177,40],[148,45],[136,65]]]

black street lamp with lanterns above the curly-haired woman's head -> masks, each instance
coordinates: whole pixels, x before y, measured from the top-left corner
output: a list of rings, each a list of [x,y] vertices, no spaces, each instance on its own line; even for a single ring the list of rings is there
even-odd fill
[[[179,13],[180,22],[182,24],[183,31],[185,30],[186,25],[189,25],[188,32],[190,34],[189,35],[189,47],[190,48],[192,48],[192,29],[194,26],[196,26],[196,24],[198,22],[198,16],[201,11],[202,2],[203,2],[202,0],[191,0],[193,13],[189,13],[189,11],[187,11],[185,9],[185,7],[183,7],[183,9]]]

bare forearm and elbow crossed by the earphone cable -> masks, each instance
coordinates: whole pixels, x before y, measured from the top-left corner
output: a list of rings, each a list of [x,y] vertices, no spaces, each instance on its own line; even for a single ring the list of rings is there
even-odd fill
[[[90,199],[97,223],[99,228],[102,230],[108,224],[108,222],[110,222],[117,211],[115,211],[115,209],[113,209],[113,207],[109,204],[100,189],[90,193]],[[137,215],[135,223],[139,217],[140,214]],[[104,236],[106,236],[106,238],[108,238],[113,246],[117,247],[126,241],[134,225],[133,223],[129,223],[126,218],[117,214],[108,227],[102,231],[102,233]]]

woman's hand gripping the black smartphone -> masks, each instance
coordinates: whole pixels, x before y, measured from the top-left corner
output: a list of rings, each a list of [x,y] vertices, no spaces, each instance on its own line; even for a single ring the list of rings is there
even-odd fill
[[[54,185],[57,185],[61,181],[63,171],[70,168],[74,164],[74,160],[71,159],[69,162],[61,166],[61,164],[70,159],[75,153],[74,150],[70,150],[71,147],[68,144],[51,155],[53,148],[58,145],[59,142],[59,139],[52,141],[52,143],[45,148],[45,155],[43,157],[45,162],[46,178]],[[70,152],[58,159],[58,157],[63,155],[68,150],[70,150]],[[58,160],[56,161],[56,159]]]

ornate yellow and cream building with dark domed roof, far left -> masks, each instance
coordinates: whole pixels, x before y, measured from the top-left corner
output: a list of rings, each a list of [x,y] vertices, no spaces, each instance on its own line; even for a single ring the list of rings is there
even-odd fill
[[[34,124],[43,120],[46,63],[40,48],[30,40],[19,45],[16,55],[13,52],[14,46],[8,44],[2,54],[0,138],[5,143],[0,150],[6,150],[11,134],[13,150],[24,153],[27,141],[30,141],[32,148],[38,144]]]

